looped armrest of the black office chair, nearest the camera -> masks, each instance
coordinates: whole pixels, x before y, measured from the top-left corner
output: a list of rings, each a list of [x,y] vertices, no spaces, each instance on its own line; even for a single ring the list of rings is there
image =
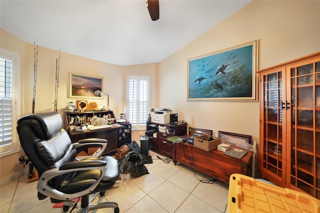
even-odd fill
[[[83,161],[83,162],[82,162]],[[90,162],[92,161],[92,163]],[[58,199],[58,200],[71,200],[80,196],[83,196],[85,194],[89,194],[91,193],[96,186],[99,184],[103,174],[105,173],[106,170],[106,162],[104,160],[80,160],[80,161],[74,161],[71,162],[70,165],[68,163],[66,163],[66,166],[62,165],[62,169],[60,168],[52,168],[49,170],[46,170],[42,173],[42,175],[40,176],[38,183],[37,183],[37,190],[38,192],[40,192],[41,194],[44,194],[45,196],[48,197],[52,197],[54,199]],[[85,167],[80,167],[80,165],[84,165]],[[70,167],[70,168],[68,168]],[[73,167],[73,168],[71,168]],[[81,171],[81,170],[91,170],[91,169],[95,169],[95,170],[100,170],[100,175],[99,177],[96,179],[96,181],[94,181],[94,183],[89,186],[88,188],[82,190],[82,191],[78,191],[75,193],[64,193],[62,191],[59,191],[58,189],[52,188],[48,182],[61,174],[65,174],[65,173],[69,173],[69,172],[74,172],[74,171]]]

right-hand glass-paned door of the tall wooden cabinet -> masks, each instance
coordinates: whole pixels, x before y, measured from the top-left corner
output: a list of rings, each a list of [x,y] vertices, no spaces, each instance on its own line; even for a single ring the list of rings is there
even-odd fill
[[[320,62],[287,67],[291,90],[288,158],[291,185],[320,198]]]

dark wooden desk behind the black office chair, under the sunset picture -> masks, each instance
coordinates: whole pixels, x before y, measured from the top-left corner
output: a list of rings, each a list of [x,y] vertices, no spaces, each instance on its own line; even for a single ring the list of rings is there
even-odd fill
[[[102,138],[106,139],[107,146],[103,152],[103,154],[115,151],[118,145],[118,130],[119,128],[124,127],[123,125],[116,125],[112,126],[111,128],[101,128],[101,129],[94,129],[94,130],[84,130],[84,131],[71,131],[67,130],[71,142],[77,142],[80,139],[85,138]]]

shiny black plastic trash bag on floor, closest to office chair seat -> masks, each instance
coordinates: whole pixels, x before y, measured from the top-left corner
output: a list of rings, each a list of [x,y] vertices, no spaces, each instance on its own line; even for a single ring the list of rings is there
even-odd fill
[[[148,169],[143,164],[145,157],[135,151],[129,151],[123,155],[119,160],[120,173],[131,173],[134,177],[139,177],[148,174]]]

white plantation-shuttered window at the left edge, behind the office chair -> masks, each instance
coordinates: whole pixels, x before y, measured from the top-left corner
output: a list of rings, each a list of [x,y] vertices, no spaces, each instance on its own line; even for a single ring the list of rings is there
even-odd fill
[[[0,156],[19,151],[15,128],[17,55],[0,52]],[[15,71],[15,73],[14,73]]]

